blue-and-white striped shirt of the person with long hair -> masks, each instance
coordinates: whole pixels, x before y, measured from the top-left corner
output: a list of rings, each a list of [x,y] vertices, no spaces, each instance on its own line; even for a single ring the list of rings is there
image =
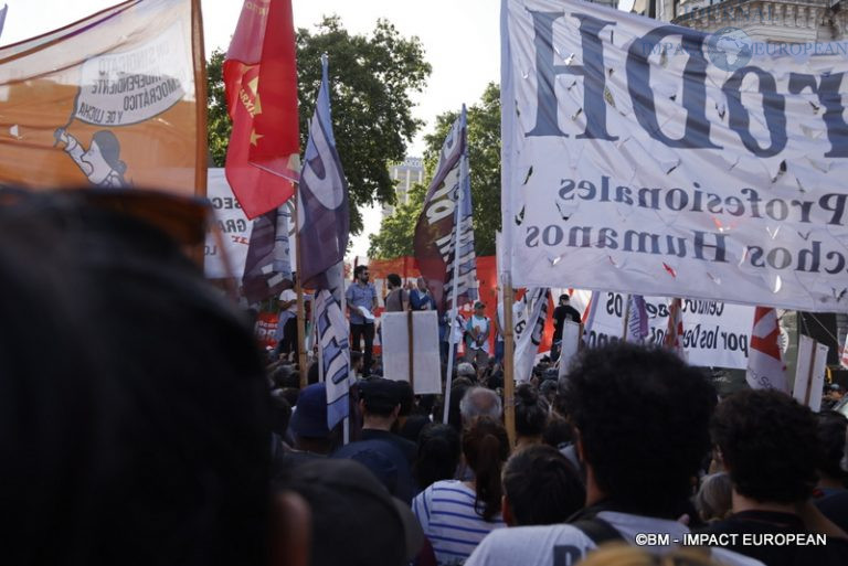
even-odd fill
[[[500,513],[491,522],[484,521],[474,509],[474,490],[462,481],[443,480],[412,502],[439,566],[463,564],[490,531],[506,526]]]

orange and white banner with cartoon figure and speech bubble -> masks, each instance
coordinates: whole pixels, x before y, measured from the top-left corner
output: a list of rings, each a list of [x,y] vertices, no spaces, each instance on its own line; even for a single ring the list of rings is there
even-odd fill
[[[0,183],[204,195],[199,19],[130,0],[0,49]]]

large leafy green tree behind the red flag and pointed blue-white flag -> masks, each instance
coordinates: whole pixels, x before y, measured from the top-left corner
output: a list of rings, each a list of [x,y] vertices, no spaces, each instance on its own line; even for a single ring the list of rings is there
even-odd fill
[[[378,20],[369,35],[352,35],[338,17],[328,17],[314,30],[297,30],[296,43],[301,148],[321,83],[321,54],[329,56],[333,134],[350,185],[351,232],[358,234],[359,206],[394,203],[389,163],[403,160],[406,145],[422,126],[412,116],[411,95],[423,90],[431,66],[421,41],[401,36],[385,20]],[[218,165],[223,165],[231,129],[223,60],[222,52],[213,53],[206,71],[209,147]]]

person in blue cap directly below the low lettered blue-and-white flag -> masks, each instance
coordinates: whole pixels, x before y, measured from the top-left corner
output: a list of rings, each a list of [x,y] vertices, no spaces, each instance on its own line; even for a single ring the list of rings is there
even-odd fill
[[[326,456],[333,449],[327,428],[327,385],[314,383],[300,389],[288,428],[295,436],[295,458]]]

